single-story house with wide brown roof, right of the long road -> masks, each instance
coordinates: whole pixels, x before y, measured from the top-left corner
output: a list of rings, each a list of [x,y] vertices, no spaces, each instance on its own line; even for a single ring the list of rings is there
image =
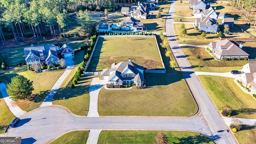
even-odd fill
[[[240,44],[240,47],[239,47],[235,42],[231,42],[228,39],[215,40],[208,45],[208,48],[212,50],[212,53],[215,53],[216,58],[220,60],[223,57],[226,57],[226,58],[247,57],[248,58],[249,56],[249,54],[247,54],[246,52],[244,52],[244,50],[242,50],[242,44]]]

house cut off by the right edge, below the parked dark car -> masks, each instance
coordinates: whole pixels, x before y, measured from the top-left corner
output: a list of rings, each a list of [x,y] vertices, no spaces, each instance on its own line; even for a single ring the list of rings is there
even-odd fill
[[[250,88],[254,91],[256,90],[256,63],[247,63],[242,66],[242,72],[239,81],[242,82],[243,86]]]

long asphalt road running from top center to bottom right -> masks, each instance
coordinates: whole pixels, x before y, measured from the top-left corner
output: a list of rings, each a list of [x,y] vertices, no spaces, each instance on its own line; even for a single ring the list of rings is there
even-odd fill
[[[172,0],[169,13],[166,18],[166,37],[169,41],[172,53],[174,54],[177,64],[181,68],[184,78],[186,79],[186,82],[200,108],[199,112],[202,113],[210,131],[212,134],[219,132],[220,138],[216,140],[216,142],[219,144],[236,144],[237,142],[234,136],[231,132],[227,131],[228,127],[222,120],[212,100],[210,100],[210,97],[202,86],[200,80],[194,74],[194,70],[191,68],[188,60],[176,41],[173,30],[175,4],[176,0]]]

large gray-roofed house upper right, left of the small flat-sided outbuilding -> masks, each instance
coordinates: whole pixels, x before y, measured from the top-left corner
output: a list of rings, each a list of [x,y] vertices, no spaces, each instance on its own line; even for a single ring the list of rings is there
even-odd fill
[[[220,28],[216,20],[210,18],[210,16],[202,16],[201,18],[196,18],[195,25],[200,31],[217,33]]]

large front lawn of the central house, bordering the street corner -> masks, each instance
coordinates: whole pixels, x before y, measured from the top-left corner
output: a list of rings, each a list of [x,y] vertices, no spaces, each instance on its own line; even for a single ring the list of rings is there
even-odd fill
[[[98,113],[104,116],[190,116],[197,106],[182,74],[146,74],[147,88],[99,93]],[[192,112],[192,114],[190,113]]]

